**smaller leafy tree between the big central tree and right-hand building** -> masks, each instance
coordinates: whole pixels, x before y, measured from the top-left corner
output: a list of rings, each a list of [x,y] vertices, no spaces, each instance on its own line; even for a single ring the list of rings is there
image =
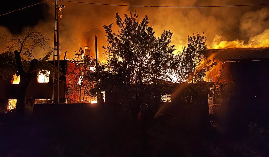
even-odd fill
[[[206,72],[216,65],[216,62],[206,56],[207,45],[204,34],[188,36],[188,44],[176,57],[175,75],[179,82],[196,83],[204,80]]]

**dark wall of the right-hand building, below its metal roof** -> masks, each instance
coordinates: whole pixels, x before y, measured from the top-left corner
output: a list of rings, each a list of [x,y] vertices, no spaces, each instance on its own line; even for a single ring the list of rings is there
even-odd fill
[[[229,122],[235,117],[248,122],[267,122],[269,61],[220,62],[207,74],[207,79],[219,77],[220,65],[224,65],[225,74],[221,81],[229,85],[221,91],[221,105],[215,113]],[[214,107],[209,104],[211,110]]]

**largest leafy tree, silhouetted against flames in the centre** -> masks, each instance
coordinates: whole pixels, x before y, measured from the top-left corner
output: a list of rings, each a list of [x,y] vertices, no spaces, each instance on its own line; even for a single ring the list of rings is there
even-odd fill
[[[147,16],[138,21],[136,12],[130,12],[124,19],[116,13],[117,32],[112,30],[113,24],[104,26],[108,43],[103,46],[106,68],[118,78],[121,91],[128,93],[131,100],[142,97],[145,85],[156,83],[158,79],[171,79],[173,33],[164,31],[161,37],[156,37],[148,23]]]

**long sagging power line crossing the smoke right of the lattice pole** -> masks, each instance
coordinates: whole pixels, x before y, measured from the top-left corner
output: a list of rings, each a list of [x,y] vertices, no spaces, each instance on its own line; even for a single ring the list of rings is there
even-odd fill
[[[167,7],[167,8],[199,8],[199,7],[243,7],[243,6],[261,6],[269,5],[267,4],[242,4],[242,5],[219,5],[219,6],[151,6],[151,5],[126,5],[126,4],[107,4],[107,3],[90,3],[90,2],[76,2],[63,0],[64,2],[73,3],[84,3],[84,4],[94,4],[94,5],[107,5],[107,6],[124,6],[124,7]]]

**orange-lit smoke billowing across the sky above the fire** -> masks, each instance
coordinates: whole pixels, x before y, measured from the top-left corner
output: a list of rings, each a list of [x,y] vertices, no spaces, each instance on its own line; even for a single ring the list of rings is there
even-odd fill
[[[266,0],[93,0],[83,2],[131,4],[131,5],[161,5],[161,6],[205,6],[205,5],[236,5],[262,4]],[[60,2],[62,4],[62,2]],[[214,8],[149,8],[149,7],[116,7],[100,6],[81,3],[63,2],[66,6],[62,10],[63,18],[59,20],[60,43],[63,52],[68,51],[68,58],[72,58],[74,51],[80,46],[90,46],[94,52],[94,36],[98,37],[99,58],[104,60],[102,45],[106,45],[103,25],[115,24],[115,12],[120,16],[136,11],[139,19],[148,15],[150,26],[160,36],[164,30],[174,33],[172,44],[178,50],[186,45],[188,35],[197,31],[204,32],[209,48],[233,47],[268,47],[269,41],[269,7],[214,7]],[[54,6],[48,1],[42,8],[48,6],[46,18],[41,18],[34,28],[42,27],[48,37],[53,38]],[[12,21],[12,19],[10,19]],[[14,19],[16,20],[16,19]],[[8,27],[8,26],[6,26]],[[27,26],[23,26],[26,29]],[[6,31],[1,27],[0,33]],[[9,28],[10,30],[10,28]],[[114,25],[114,30],[117,27]],[[19,32],[18,32],[19,33]],[[258,40],[257,45],[250,45],[252,40]],[[1,46],[1,51],[3,50]],[[177,52],[176,51],[176,52]],[[176,53],[175,52],[175,53]],[[37,53],[42,55],[43,51]],[[94,53],[92,53],[94,56]]]

